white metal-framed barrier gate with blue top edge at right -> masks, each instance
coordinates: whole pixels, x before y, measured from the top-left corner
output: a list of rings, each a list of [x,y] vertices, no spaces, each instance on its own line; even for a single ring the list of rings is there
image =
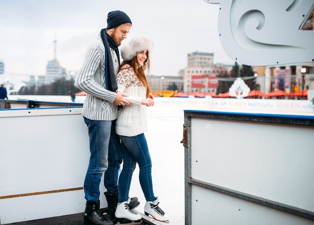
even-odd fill
[[[314,224],[314,117],[186,110],[185,224]]]

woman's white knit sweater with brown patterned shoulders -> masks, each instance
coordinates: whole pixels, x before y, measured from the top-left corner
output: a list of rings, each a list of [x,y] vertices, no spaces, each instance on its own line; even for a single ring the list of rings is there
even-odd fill
[[[123,65],[117,74],[118,91],[128,94],[126,99],[131,105],[125,105],[118,111],[116,133],[122,136],[136,136],[147,131],[146,105],[141,104],[146,98],[146,88],[136,77],[129,65]]]

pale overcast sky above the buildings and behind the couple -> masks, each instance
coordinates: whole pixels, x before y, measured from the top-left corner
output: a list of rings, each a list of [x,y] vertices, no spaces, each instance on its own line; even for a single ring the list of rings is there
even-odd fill
[[[218,4],[204,0],[0,0],[0,60],[6,74],[46,73],[54,58],[79,70],[87,47],[107,26],[112,10],[126,12],[136,33],[150,35],[151,74],[177,75],[190,52],[213,52],[215,63],[234,64],[218,37]]]

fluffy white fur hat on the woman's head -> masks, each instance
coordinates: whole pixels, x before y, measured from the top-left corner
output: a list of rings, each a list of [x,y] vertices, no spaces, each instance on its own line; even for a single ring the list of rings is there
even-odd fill
[[[152,48],[152,40],[148,35],[136,34],[127,44],[121,46],[121,56],[124,61],[129,61],[138,51],[147,49],[148,52],[151,52]]]

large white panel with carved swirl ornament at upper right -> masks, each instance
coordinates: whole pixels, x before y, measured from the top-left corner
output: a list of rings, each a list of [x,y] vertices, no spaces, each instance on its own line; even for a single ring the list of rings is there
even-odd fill
[[[225,52],[246,65],[314,62],[314,30],[302,30],[314,0],[204,0],[219,3]]]

